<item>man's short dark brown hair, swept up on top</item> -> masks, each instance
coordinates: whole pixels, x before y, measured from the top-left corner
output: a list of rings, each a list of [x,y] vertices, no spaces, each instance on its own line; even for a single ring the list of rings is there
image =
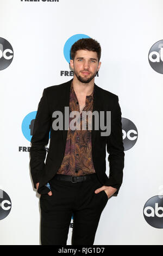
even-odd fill
[[[98,62],[101,58],[101,46],[99,42],[97,42],[95,39],[82,38],[74,42],[74,44],[71,46],[71,51],[70,51],[71,59],[74,60],[74,57],[76,56],[76,52],[78,50],[88,50],[92,52],[97,52]]]

